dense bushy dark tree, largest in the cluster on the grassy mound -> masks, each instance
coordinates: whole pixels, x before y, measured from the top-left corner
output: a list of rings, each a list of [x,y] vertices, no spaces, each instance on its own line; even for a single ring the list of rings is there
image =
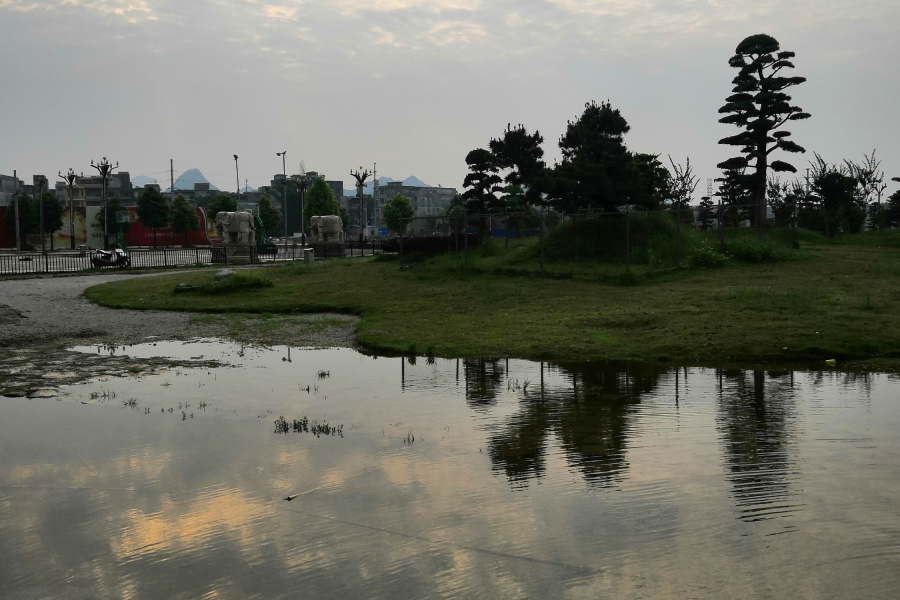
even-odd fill
[[[625,117],[609,102],[585,104],[576,121],[569,121],[559,140],[563,160],[557,176],[568,180],[562,203],[567,210],[613,210],[626,203],[628,163],[625,134],[631,130]]]

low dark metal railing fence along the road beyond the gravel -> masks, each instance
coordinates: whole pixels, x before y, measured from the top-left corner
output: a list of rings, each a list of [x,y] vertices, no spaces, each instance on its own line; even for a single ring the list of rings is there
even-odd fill
[[[360,243],[358,240],[346,243],[311,243],[315,257],[354,258],[374,256],[384,252],[379,240]],[[92,251],[86,252],[19,252],[0,254],[0,275],[28,275],[40,273],[77,273],[94,269],[91,262]],[[146,269],[159,267],[187,267],[194,265],[215,265],[226,263],[224,246],[204,246],[196,248],[131,248],[128,267],[103,267],[112,269]],[[261,264],[303,260],[303,249],[297,245],[270,246],[259,250],[250,249],[250,262]]]

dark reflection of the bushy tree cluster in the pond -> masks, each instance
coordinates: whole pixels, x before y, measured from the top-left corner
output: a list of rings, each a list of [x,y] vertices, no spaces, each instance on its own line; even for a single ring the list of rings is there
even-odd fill
[[[540,381],[530,382],[521,391],[519,411],[489,439],[494,469],[505,472],[516,486],[541,477],[548,438],[553,434],[566,460],[588,484],[615,483],[627,468],[625,450],[633,408],[663,375],[664,371],[647,366],[541,365]],[[492,403],[504,385],[502,365],[467,363],[466,381],[471,406]]]

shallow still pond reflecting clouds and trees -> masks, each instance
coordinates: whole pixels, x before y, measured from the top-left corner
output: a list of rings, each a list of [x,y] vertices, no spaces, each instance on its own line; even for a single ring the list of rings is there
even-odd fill
[[[900,593],[897,378],[117,351],[227,366],[0,399],[2,598]]]

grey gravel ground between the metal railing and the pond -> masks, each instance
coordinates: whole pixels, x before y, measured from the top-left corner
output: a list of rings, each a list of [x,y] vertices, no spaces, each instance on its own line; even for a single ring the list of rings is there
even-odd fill
[[[169,272],[171,273],[171,271]],[[231,337],[244,343],[294,346],[355,346],[357,320],[344,315],[311,315],[281,319],[257,331],[241,317],[205,316],[165,311],[103,308],[88,302],[88,287],[123,278],[156,275],[90,275],[0,280],[0,347],[61,348],[79,344],[135,344],[148,338],[185,340]],[[322,321],[322,319],[325,319]],[[311,326],[304,327],[304,323]],[[325,323],[326,326],[322,326]],[[313,325],[315,324],[315,325]]]

